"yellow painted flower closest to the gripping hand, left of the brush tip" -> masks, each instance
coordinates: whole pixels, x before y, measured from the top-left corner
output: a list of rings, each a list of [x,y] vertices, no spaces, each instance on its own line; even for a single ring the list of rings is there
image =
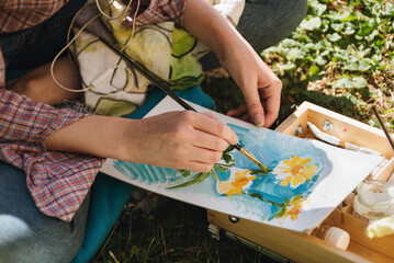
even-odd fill
[[[245,188],[251,185],[251,181],[257,179],[256,175],[250,175],[249,172],[249,170],[244,170],[243,172],[235,172],[228,181],[217,182],[217,193],[226,194],[227,196],[232,196],[234,194],[241,194]]]

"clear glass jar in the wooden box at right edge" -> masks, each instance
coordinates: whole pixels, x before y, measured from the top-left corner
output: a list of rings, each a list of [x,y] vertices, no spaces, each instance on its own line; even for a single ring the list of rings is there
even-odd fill
[[[353,201],[357,216],[364,220],[380,219],[394,214],[394,188],[385,181],[371,180],[357,187]]]

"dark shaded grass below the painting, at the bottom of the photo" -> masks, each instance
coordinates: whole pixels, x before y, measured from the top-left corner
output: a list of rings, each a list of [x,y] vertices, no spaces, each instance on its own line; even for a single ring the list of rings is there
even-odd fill
[[[236,241],[213,239],[204,209],[164,197],[158,202],[158,208],[140,219],[123,211],[93,262],[269,262]]]

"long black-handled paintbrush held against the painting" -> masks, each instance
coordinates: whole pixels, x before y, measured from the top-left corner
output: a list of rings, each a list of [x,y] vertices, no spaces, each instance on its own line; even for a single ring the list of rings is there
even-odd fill
[[[188,103],[185,103],[182,99],[180,99],[173,91],[167,87],[166,83],[162,83],[162,80],[159,80],[158,77],[156,77],[153,72],[150,72],[147,68],[145,68],[143,65],[133,61],[128,56],[126,56],[124,53],[119,50],[119,48],[104,38],[100,38],[100,41],[109,47],[112,52],[114,52],[117,56],[120,56],[128,66],[135,68],[142,76],[144,76],[147,80],[149,80],[153,84],[157,85],[159,89],[161,89],[164,92],[166,92],[167,95],[169,95],[171,99],[173,99],[176,102],[178,102],[181,106],[183,106],[185,110],[190,110],[193,112],[196,112],[192,106],[190,106]],[[250,152],[245,150],[244,147],[241,147],[239,144],[233,145],[234,148],[239,150],[244,156],[246,156],[248,159],[250,159],[252,162],[255,162],[263,172],[268,171],[268,168],[259,162]]]

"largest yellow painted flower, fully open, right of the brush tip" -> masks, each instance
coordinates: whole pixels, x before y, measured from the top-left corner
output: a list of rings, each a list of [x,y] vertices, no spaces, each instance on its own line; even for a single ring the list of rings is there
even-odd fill
[[[312,178],[317,172],[317,167],[315,164],[306,165],[312,161],[311,158],[301,158],[293,156],[292,159],[286,159],[281,161],[272,172],[278,174],[278,179],[282,180],[281,184],[288,186],[289,183],[292,187],[296,187],[300,184],[305,183],[306,180],[312,180]]]

